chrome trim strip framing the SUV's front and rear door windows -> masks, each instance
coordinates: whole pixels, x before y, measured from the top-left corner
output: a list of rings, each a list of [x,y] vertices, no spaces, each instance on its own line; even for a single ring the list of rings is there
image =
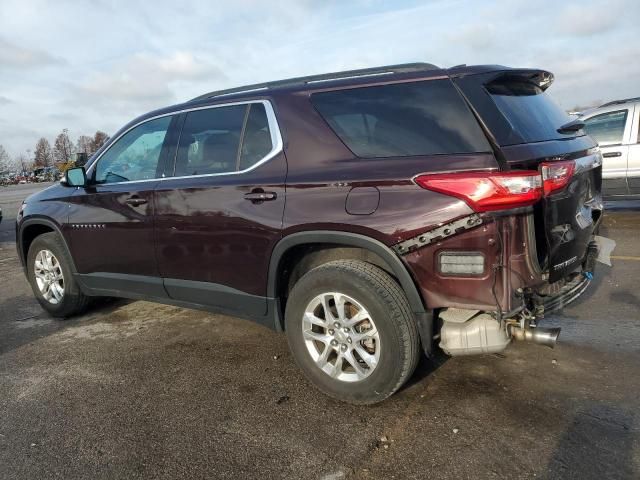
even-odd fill
[[[247,172],[250,172],[252,170],[255,170],[256,168],[258,168],[261,165],[264,165],[269,160],[271,160],[273,157],[275,157],[280,152],[282,152],[282,150],[284,148],[284,143],[282,141],[282,134],[280,133],[280,126],[278,125],[278,119],[276,118],[275,111],[273,110],[273,105],[271,105],[271,102],[269,100],[245,100],[245,101],[240,101],[240,102],[229,102],[229,103],[220,103],[220,104],[216,104],[216,105],[205,105],[205,106],[202,106],[202,107],[183,108],[181,110],[175,110],[173,112],[163,113],[161,115],[156,115],[154,117],[146,118],[146,119],[136,123],[135,125],[132,125],[127,130],[125,130],[120,135],[118,135],[118,137],[115,138],[113,140],[113,142],[111,142],[111,144],[109,145],[109,148],[107,148],[104,152],[101,152],[100,155],[93,162],[91,162],[91,165],[89,165],[87,167],[87,177],[89,178],[89,177],[91,177],[91,175],[93,175],[93,169],[94,169],[95,165],[98,164],[98,162],[100,161],[102,156],[105,153],[107,153],[111,149],[111,147],[118,142],[118,140],[120,140],[124,135],[129,133],[134,128],[139,127],[140,125],[142,125],[144,123],[150,122],[152,120],[156,120],[158,118],[169,117],[169,116],[172,116],[172,115],[180,115],[182,113],[195,112],[195,111],[198,111],[198,110],[208,110],[208,109],[211,109],[211,108],[222,108],[222,107],[233,107],[233,106],[236,106],[236,105],[249,105],[249,104],[252,104],[252,103],[261,103],[262,105],[264,105],[265,112],[267,113],[267,122],[269,123],[269,134],[271,135],[272,148],[271,148],[271,151],[269,153],[267,153],[262,159],[260,159],[259,161],[257,161],[253,165],[251,165],[251,167],[246,168],[244,170],[239,170],[239,171],[236,171],[236,172],[204,173],[204,174],[201,174],[201,175],[182,175],[182,176],[178,176],[178,177],[171,176],[171,177],[147,178],[147,179],[144,179],[144,180],[127,180],[125,182],[98,183],[96,185],[100,185],[100,186],[127,185],[127,184],[130,184],[130,183],[162,182],[162,181],[165,181],[165,180],[179,180],[179,179],[183,179],[183,178],[219,177],[219,176],[222,176],[222,175],[240,175],[240,174],[247,173]],[[174,158],[174,163],[175,163],[175,158]]]

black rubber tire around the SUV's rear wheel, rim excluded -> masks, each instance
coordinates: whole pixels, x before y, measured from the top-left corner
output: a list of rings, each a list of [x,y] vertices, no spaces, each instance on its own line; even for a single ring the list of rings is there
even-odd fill
[[[316,365],[305,343],[303,316],[307,305],[326,292],[338,292],[357,301],[377,328],[381,345],[378,363],[369,376],[358,381],[329,376]],[[383,401],[407,381],[420,359],[417,325],[404,292],[384,270],[358,260],[333,261],[306,273],[290,292],[285,329],[295,361],[307,378],[322,392],[348,403]]]

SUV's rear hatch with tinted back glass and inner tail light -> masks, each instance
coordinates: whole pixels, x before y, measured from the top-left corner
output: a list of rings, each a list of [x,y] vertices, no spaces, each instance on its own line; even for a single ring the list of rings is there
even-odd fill
[[[534,207],[536,250],[549,282],[580,268],[602,214],[602,157],[596,143],[546,93],[542,70],[452,72],[491,137],[504,170],[538,170],[545,196]]]

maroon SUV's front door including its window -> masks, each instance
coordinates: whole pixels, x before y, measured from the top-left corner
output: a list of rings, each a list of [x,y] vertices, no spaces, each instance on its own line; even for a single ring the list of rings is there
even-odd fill
[[[153,244],[153,191],[164,176],[171,116],[118,138],[71,198],[71,247],[81,279],[98,293],[166,297]]]

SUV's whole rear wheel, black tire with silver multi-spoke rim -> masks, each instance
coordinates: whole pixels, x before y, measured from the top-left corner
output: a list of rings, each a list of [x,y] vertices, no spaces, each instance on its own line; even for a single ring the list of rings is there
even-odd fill
[[[420,356],[404,292],[384,270],[362,261],[329,262],[305,274],[289,295],[285,327],[305,375],[349,403],[384,400]]]

